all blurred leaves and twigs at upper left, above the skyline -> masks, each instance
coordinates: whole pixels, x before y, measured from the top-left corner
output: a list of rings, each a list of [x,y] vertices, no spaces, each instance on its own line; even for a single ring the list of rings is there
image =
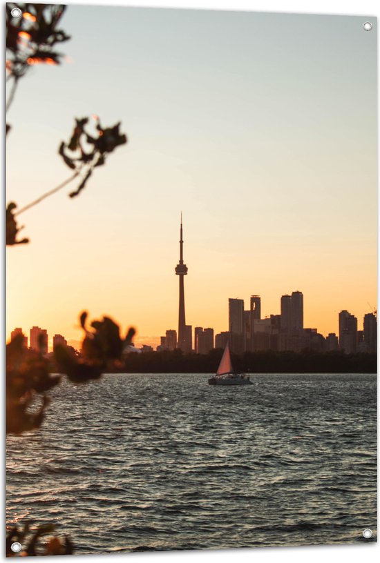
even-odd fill
[[[12,17],[12,10],[19,8],[21,17]],[[68,41],[70,37],[64,30],[59,28],[61,17],[64,15],[66,6],[64,4],[30,4],[30,3],[7,3],[6,4],[6,72],[7,82],[11,81],[12,87],[8,95],[6,110],[10,108],[15,97],[15,91],[19,79],[26,75],[31,66],[44,63],[50,65],[60,64],[64,55],[57,52],[57,43]],[[79,177],[80,183],[77,189],[70,192],[70,197],[75,197],[84,189],[88,179],[93,174],[93,168],[105,164],[106,156],[115,150],[117,146],[126,144],[126,135],[120,132],[120,123],[103,128],[99,118],[96,121],[95,133],[93,135],[85,130],[88,125],[88,117],[75,119],[75,128],[66,144],[61,142],[59,155],[64,163],[75,173],[53,190],[44,193],[21,210],[14,213],[16,205],[9,204],[7,208],[7,231],[6,244],[25,244],[28,239],[16,240],[17,228],[15,215],[23,213],[40,201],[61,190],[66,184]],[[10,125],[6,125],[8,134]]]

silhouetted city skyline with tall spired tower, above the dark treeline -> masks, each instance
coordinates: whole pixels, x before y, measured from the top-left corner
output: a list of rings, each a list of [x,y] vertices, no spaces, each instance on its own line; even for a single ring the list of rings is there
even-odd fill
[[[377,348],[377,310],[372,309],[372,313],[366,313],[363,317],[363,330],[358,331],[358,319],[348,312],[341,310],[339,313],[339,333],[336,335],[330,331],[328,335],[318,332],[318,327],[305,328],[303,293],[299,290],[292,291],[292,294],[281,295],[280,314],[270,313],[264,318],[261,317],[261,296],[251,295],[249,299],[249,309],[245,309],[245,300],[229,297],[228,299],[228,323],[227,330],[220,333],[213,328],[203,328],[202,326],[186,324],[185,297],[184,297],[184,276],[187,275],[189,268],[184,264],[184,239],[182,211],[180,213],[180,259],[175,266],[175,275],[179,276],[179,302],[178,302],[178,331],[173,328],[166,330],[165,336],[153,337],[152,339],[140,337],[142,350],[156,348],[161,350],[175,350],[179,348],[183,353],[207,353],[214,347],[224,347],[227,342],[231,352],[242,354],[245,351],[258,350],[298,350],[312,347],[311,337],[316,335],[318,339],[314,345],[326,350],[345,350],[346,352],[356,353],[360,350],[359,342],[364,342],[363,350],[374,351]],[[368,304],[369,305],[369,304]],[[374,325],[370,320],[374,319]],[[373,328],[374,327],[374,328]],[[22,333],[22,328],[12,330],[10,338]],[[361,334],[361,341],[359,341]],[[43,337],[43,339],[41,339]],[[40,340],[41,339],[41,340]],[[160,344],[158,344],[160,339]],[[54,349],[55,344],[68,344],[68,341],[61,334],[55,334],[50,349]],[[193,346],[194,343],[194,346]],[[24,344],[28,346],[28,337],[25,336]],[[29,346],[32,349],[39,349],[43,353],[48,353],[48,333],[46,329],[33,326],[30,329]],[[69,345],[73,343],[69,341]],[[76,344],[80,344],[77,342]],[[215,346],[214,346],[215,344]],[[73,346],[80,349],[80,345]]]

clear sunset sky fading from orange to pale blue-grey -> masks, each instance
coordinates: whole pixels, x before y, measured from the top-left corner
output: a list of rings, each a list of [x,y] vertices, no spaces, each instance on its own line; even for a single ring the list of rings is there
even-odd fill
[[[305,326],[377,307],[377,22],[361,17],[69,6],[63,65],[19,83],[7,201],[70,175],[74,117],[129,137],[76,199],[19,217],[7,249],[7,337],[79,339],[109,315],[155,342],[178,325],[180,211],[187,324],[228,329],[228,298],[304,295]],[[73,186],[74,188],[75,186]]]

